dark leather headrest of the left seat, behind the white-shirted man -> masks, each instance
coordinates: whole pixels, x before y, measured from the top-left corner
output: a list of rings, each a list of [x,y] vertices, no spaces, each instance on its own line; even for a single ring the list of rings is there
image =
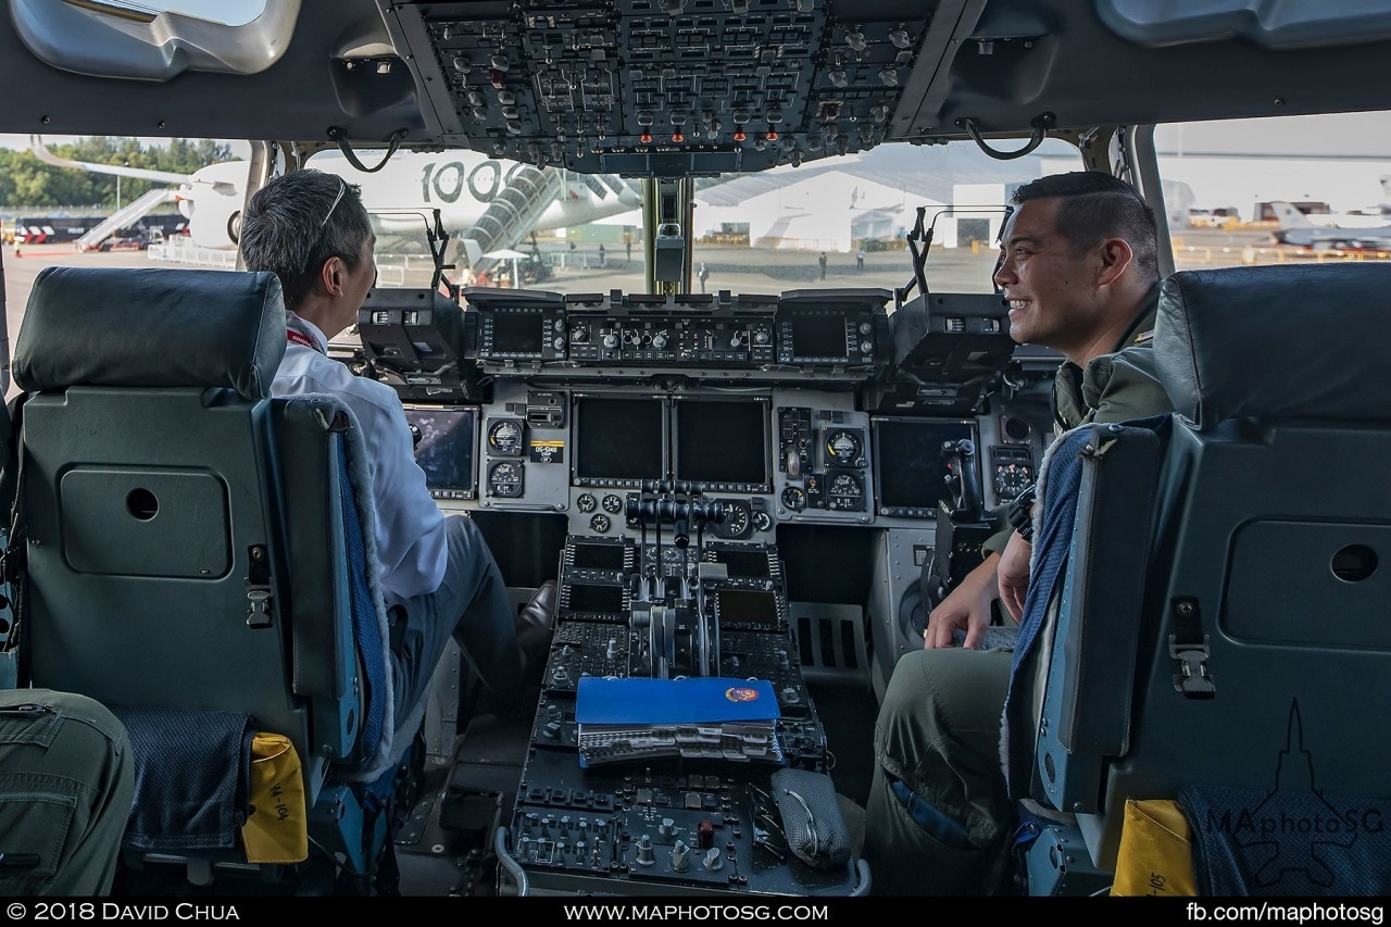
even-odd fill
[[[259,399],[284,354],[273,273],[49,267],[29,294],[14,380],[25,391],[195,386]]]

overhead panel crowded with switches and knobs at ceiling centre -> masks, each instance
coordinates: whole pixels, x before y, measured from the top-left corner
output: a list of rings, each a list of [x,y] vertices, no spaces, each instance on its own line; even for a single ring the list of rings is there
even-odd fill
[[[715,174],[883,142],[929,18],[826,0],[395,7],[444,124],[495,157]],[[433,65],[430,64],[433,61]],[[438,82],[437,82],[438,81]],[[447,97],[447,99],[445,99]]]

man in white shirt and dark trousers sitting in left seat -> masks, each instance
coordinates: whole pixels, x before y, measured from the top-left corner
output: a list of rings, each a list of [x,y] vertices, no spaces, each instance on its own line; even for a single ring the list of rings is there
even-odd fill
[[[395,390],[327,356],[328,340],[357,320],[376,284],[374,244],[357,187],[316,170],[275,178],[242,217],[246,267],[274,271],[285,295],[288,344],[271,394],[337,395],[357,418],[371,455],[377,560],[398,625],[391,637],[401,724],[428,690],[451,635],[497,695],[538,676],[556,590],[542,585],[516,612],[477,525],[444,518],[430,497]]]

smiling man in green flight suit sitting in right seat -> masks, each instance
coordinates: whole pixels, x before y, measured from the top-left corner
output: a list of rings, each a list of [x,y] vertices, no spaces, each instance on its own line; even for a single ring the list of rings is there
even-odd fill
[[[1155,377],[1155,212],[1127,182],[1078,171],[1018,188],[995,283],[1010,335],[1067,358],[1053,381],[1059,433],[1171,411]],[[875,894],[1004,891],[1014,809],[1000,766],[1008,650],[979,650],[999,599],[1017,624],[1028,589],[1028,494],[983,562],[928,618],[894,667],[875,724],[864,856]],[[964,632],[963,646],[954,636]]]

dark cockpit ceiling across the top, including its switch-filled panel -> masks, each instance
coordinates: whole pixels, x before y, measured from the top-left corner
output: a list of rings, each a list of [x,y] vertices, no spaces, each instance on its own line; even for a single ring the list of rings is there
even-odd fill
[[[198,70],[238,56],[193,49],[211,39],[189,29],[159,46],[163,78],[117,79],[72,64],[93,56],[46,54],[77,33],[21,32],[19,13],[50,3],[64,0],[10,0],[0,22],[3,132],[330,145],[337,128],[356,148],[627,175],[755,171],[971,131],[1384,109],[1391,60],[1384,3],[299,0],[282,54],[238,50],[260,70]],[[271,40],[264,22],[242,35]]]

